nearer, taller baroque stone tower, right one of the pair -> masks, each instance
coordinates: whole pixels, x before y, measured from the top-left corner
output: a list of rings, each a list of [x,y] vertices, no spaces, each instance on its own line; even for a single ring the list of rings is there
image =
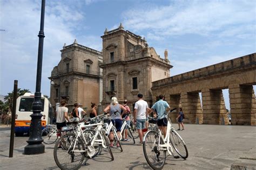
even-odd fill
[[[122,24],[118,29],[104,32],[103,39],[103,101],[105,107],[112,96],[120,103],[124,99],[130,108],[142,93],[144,100],[152,105],[152,81],[170,76],[170,61],[167,51],[165,59],[160,58],[145,38],[125,31]]]

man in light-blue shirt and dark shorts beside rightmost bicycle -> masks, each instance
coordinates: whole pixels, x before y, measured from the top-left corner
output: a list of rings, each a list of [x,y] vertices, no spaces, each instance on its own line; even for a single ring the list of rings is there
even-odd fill
[[[151,110],[154,114],[157,114],[157,125],[160,128],[161,132],[164,133],[164,136],[166,135],[166,129],[167,129],[167,114],[166,109],[170,109],[169,104],[164,101],[164,96],[159,95],[159,101],[153,104]],[[157,113],[156,111],[157,110]]]

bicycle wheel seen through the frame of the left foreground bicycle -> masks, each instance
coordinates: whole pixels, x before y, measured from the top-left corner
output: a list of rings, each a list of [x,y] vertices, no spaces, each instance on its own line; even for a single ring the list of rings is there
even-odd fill
[[[83,131],[84,133],[84,137],[85,137],[85,140],[86,140],[86,143],[87,143],[87,146],[91,146],[91,142],[93,140],[93,138],[95,137],[95,134],[96,134],[96,131],[95,130],[92,130],[92,129],[85,129]],[[100,136],[98,134],[96,140],[100,139]],[[94,158],[96,157],[96,155],[98,155],[101,150],[102,150],[102,144],[98,143],[98,142],[95,142],[93,144],[93,149],[95,150],[95,153],[93,155],[91,155],[91,157],[89,156],[90,154],[90,150],[87,150],[87,154],[86,154],[86,158]]]

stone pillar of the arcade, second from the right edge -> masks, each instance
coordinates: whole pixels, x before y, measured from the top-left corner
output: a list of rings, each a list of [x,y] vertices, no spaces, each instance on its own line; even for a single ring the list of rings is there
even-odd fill
[[[221,89],[202,89],[203,123],[224,124],[227,111]]]

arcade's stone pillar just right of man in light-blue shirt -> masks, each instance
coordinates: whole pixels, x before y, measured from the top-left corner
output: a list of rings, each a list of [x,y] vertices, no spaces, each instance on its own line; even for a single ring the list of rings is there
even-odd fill
[[[177,108],[177,111],[173,112],[170,115],[171,121],[176,122],[178,111],[179,111],[179,108],[181,107],[180,94],[179,95],[170,95],[170,100],[166,100],[166,101],[169,103],[171,109]]]

